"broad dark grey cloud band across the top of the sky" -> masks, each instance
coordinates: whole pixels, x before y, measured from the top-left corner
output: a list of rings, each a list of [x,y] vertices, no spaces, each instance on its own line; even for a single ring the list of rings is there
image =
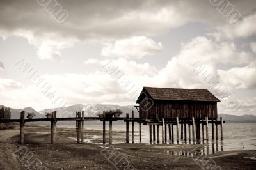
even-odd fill
[[[212,26],[227,24],[209,1],[59,0],[58,3],[69,13],[63,24],[56,22],[38,1],[0,1],[0,30],[2,33],[26,30],[35,37],[54,33],[78,40],[111,40],[160,35],[189,21]],[[241,11],[242,16],[255,9],[255,1],[230,3]]]

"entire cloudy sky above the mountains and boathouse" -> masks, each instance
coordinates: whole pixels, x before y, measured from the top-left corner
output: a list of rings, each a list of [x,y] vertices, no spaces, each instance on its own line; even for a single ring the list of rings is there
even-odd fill
[[[255,1],[0,0],[0,104],[135,105],[152,86],[256,115],[255,22]]]

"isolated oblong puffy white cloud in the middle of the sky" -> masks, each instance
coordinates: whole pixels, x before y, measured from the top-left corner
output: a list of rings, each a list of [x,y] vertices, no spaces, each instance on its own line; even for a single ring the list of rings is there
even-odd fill
[[[145,36],[134,36],[132,38],[117,40],[115,43],[104,43],[102,56],[123,57],[123,58],[143,58],[143,56],[161,52],[163,46],[161,42]]]

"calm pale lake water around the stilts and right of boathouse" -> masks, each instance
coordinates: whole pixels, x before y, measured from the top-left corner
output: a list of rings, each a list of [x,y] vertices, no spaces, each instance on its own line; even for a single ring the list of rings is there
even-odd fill
[[[74,128],[75,125],[58,125],[58,127],[69,127]],[[102,130],[102,125],[85,125],[85,132],[88,130]],[[134,123],[134,141],[135,143],[139,143],[139,133],[138,133],[138,123]],[[179,127],[180,129],[180,127]],[[108,123],[106,123],[106,130],[108,130]],[[113,143],[124,143],[126,134],[125,134],[125,123],[122,125],[115,125],[113,123],[113,131],[122,132],[120,135],[113,135]],[[131,130],[131,124],[130,124]],[[149,144],[149,126],[141,125],[141,143]],[[187,127],[188,130],[188,127]],[[256,150],[256,123],[227,123],[223,124],[223,141],[220,140],[220,126],[218,126],[218,137],[219,140],[212,140],[211,136],[211,125],[209,124],[209,142],[206,140],[197,141],[197,143],[204,144],[205,153],[212,154],[216,153],[216,151],[230,151],[230,150]],[[153,131],[153,130],[152,130]],[[157,132],[157,128],[156,128]],[[176,128],[174,126],[173,132],[176,142]],[[201,128],[202,133],[202,128]],[[168,134],[168,132],[167,132]],[[214,126],[214,135],[215,135],[215,126]],[[106,136],[108,138],[108,136]],[[179,134],[180,137],[180,134]],[[188,132],[187,132],[188,138]],[[202,138],[202,136],[201,136]],[[206,137],[205,137],[206,138]],[[87,142],[92,141],[93,139],[102,139],[102,134],[91,136],[90,139],[87,139]],[[157,134],[156,134],[157,139]],[[161,127],[160,127],[160,143],[161,143]],[[108,141],[108,139],[106,139]],[[130,141],[131,141],[131,133],[130,133]],[[169,141],[167,142],[169,143]],[[182,141],[179,139],[179,144],[189,144],[189,142]],[[191,142],[191,144],[193,144]]]

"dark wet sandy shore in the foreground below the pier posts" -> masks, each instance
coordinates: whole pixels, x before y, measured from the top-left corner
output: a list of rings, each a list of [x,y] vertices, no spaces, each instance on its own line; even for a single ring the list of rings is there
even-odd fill
[[[206,156],[195,152],[199,144],[118,143],[112,148],[95,139],[102,134],[100,130],[86,130],[86,143],[77,144],[74,128],[57,128],[56,144],[50,144],[50,132],[50,127],[25,127],[25,144],[20,145],[19,128],[0,130],[0,169],[26,169],[31,162],[29,168],[36,169],[35,159],[42,162],[37,167],[46,169],[256,169],[256,150],[219,151]],[[120,133],[113,132],[113,142],[125,140]],[[26,153],[20,151],[24,146]],[[30,159],[23,157],[28,153],[32,153]],[[21,157],[24,160],[17,160]]]

